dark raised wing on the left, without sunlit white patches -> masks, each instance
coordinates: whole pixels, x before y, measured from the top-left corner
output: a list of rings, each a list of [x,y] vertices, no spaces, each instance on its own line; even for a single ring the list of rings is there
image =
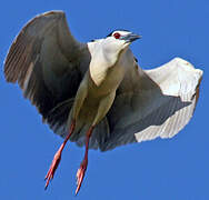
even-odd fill
[[[72,37],[64,13],[50,11],[29,21],[14,39],[6,58],[4,77],[19,83],[46,120],[53,108],[76,96],[89,61],[87,44]],[[48,122],[66,119],[56,120]]]

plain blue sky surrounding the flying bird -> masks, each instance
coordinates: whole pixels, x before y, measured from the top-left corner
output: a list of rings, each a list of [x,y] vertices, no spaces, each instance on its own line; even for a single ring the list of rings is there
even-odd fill
[[[195,116],[179,134],[104,153],[91,150],[81,191],[74,197],[83,149],[67,146],[44,191],[44,174],[62,139],[42,124],[17,86],[6,83],[1,70],[0,199],[208,200],[208,0],[2,1],[1,66],[13,38],[29,19],[44,11],[64,10],[80,41],[104,37],[117,28],[128,29],[143,36],[131,46],[143,69],[181,57],[205,74]]]

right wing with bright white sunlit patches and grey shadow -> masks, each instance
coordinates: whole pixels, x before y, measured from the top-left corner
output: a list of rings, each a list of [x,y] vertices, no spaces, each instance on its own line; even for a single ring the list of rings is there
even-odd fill
[[[201,77],[201,70],[179,58],[153,70],[132,68],[107,116],[110,134],[101,151],[177,134],[193,114]]]

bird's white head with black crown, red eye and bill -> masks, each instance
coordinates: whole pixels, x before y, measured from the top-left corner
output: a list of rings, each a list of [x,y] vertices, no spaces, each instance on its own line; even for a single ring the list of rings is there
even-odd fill
[[[115,30],[102,40],[103,52],[109,58],[118,58],[122,50],[140,38],[141,36],[127,30]]]

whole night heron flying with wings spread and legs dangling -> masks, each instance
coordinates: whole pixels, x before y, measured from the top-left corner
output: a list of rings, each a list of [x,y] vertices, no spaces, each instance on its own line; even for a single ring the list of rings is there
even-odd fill
[[[140,36],[115,30],[83,43],[62,11],[37,16],[20,31],[4,61],[8,82],[20,86],[54,133],[64,141],[46,176],[53,179],[68,140],[84,146],[77,172],[80,190],[88,150],[171,138],[193,114],[202,71],[180,58],[142,70],[129,46]]]

